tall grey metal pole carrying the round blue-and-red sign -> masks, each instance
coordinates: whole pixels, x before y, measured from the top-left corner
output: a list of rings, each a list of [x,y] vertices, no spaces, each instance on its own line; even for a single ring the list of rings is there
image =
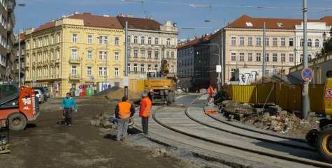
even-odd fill
[[[303,68],[308,68],[308,39],[307,39],[307,0],[303,0]],[[302,115],[308,120],[310,111],[309,82],[303,82],[302,89]]]

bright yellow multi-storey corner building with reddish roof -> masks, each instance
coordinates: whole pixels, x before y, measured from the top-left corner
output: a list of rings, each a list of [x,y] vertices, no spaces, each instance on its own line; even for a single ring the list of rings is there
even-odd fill
[[[75,13],[25,33],[25,85],[48,86],[54,96],[97,82],[123,86],[124,29],[116,17]]]

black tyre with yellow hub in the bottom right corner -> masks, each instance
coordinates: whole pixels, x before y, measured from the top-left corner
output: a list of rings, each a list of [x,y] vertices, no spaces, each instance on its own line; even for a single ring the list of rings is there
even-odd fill
[[[317,149],[326,162],[332,162],[332,125],[326,125],[318,135]]]

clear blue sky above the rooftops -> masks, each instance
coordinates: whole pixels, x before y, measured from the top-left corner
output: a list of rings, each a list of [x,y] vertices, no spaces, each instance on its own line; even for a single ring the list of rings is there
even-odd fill
[[[142,2],[143,1],[143,2]],[[20,28],[37,28],[74,12],[92,15],[131,14],[152,17],[161,24],[177,23],[178,39],[213,33],[242,15],[261,18],[303,18],[303,0],[16,0],[15,33]],[[20,7],[18,15],[18,4]],[[332,16],[331,0],[307,0],[308,19]],[[204,22],[211,20],[211,22]]]

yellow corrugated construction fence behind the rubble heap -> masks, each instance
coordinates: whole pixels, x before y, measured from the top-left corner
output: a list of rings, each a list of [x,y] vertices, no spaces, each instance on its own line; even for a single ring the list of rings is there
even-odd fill
[[[226,92],[232,100],[255,105],[274,103],[282,109],[302,111],[302,85],[266,83],[257,85],[228,85]],[[324,84],[309,85],[310,110],[324,114]]]

